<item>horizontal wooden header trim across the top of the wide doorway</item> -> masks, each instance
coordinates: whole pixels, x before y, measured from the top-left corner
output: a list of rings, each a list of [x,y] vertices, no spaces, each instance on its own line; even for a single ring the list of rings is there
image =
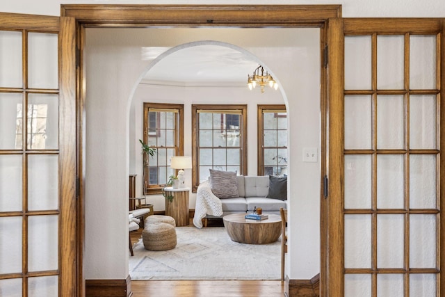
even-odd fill
[[[323,26],[341,5],[61,5],[61,15],[86,26]]]

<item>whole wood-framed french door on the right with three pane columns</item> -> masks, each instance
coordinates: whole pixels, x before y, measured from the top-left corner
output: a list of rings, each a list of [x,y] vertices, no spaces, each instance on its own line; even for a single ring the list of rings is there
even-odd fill
[[[327,294],[442,296],[441,19],[330,19]]]

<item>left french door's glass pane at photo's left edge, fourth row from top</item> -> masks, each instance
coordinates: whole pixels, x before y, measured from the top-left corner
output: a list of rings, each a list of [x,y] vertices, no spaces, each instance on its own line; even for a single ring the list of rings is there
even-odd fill
[[[22,272],[21,246],[22,217],[10,216],[0,218],[0,273]],[[2,291],[1,288],[0,286],[0,293]]]

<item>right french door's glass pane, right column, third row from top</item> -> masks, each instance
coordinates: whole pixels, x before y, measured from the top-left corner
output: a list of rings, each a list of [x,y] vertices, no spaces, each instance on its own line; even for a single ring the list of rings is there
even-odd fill
[[[412,154],[410,156],[410,208],[435,209],[436,156],[434,154]]]

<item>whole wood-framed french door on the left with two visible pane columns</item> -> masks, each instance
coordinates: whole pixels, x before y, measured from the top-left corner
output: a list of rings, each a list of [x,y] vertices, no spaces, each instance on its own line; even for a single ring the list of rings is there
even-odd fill
[[[74,34],[0,13],[0,296],[76,296]]]

